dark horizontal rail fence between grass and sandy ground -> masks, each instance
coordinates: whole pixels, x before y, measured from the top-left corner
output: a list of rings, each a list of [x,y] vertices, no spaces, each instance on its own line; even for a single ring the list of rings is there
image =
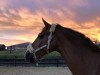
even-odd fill
[[[38,61],[39,67],[65,67],[64,59],[42,59]],[[35,66],[25,59],[0,59],[0,66]]]

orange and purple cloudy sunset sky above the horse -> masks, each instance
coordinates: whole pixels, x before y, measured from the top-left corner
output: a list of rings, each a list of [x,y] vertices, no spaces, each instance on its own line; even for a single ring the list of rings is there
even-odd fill
[[[0,0],[0,43],[33,42],[41,18],[100,41],[100,0]]]

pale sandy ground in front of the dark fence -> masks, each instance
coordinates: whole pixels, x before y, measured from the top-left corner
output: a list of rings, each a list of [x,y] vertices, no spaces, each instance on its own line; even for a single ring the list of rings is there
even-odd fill
[[[67,67],[0,67],[0,75],[72,75]]]

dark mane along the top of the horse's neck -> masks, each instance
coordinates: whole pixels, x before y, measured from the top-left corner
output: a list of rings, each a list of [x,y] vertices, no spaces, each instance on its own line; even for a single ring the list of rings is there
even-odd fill
[[[95,45],[88,37],[86,37],[84,34],[72,30],[70,28],[62,27],[61,25],[58,25],[58,27],[63,32],[64,36],[67,37],[70,41],[74,43],[74,41],[81,41],[84,45],[88,46],[92,51],[98,52],[100,51],[100,48]]]

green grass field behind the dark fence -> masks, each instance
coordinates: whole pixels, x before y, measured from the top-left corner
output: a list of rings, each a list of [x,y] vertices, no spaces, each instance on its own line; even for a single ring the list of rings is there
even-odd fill
[[[18,49],[14,51],[0,51],[0,59],[23,59],[25,56],[25,50]],[[44,56],[45,59],[61,58],[61,55],[54,51]]]

